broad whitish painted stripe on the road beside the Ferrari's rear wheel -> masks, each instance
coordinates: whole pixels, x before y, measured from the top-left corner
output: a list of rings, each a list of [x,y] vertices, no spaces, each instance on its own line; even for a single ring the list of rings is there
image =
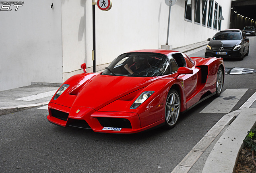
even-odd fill
[[[226,89],[200,113],[229,113],[248,89]]]

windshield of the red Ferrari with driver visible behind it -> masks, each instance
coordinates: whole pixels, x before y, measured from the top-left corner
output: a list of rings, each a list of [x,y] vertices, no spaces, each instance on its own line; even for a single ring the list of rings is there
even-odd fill
[[[158,53],[131,52],[118,56],[103,75],[151,77],[170,72],[167,56]]]

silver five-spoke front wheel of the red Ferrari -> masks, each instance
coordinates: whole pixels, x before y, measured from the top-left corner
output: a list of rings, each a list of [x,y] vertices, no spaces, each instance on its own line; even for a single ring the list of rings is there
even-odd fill
[[[180,115],[180,96],[178,92],[171,89],[165,103],[165,128],[171,129],[175,126]]]

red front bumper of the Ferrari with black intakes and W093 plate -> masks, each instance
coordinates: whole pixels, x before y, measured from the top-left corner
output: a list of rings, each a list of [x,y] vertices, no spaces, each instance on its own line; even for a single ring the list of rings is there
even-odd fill
[[[141,127],[137,113],[131,112],[103,112],[87,107],[64,107],[49,103],[48,121],[63,127],[72,126],[92,129],[100,133],[138,133],[155,127],[163,122],[156,122]]]

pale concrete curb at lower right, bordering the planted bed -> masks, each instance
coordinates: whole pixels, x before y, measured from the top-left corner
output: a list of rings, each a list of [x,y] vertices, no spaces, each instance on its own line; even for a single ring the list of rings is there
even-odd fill
[[[224,115],[211,128],[211,130],[207,132],[206,135],[204,135],[204,137],[192,148],[192,150],[184,157],[184,159],[182,159],[182,161],[173,169],[173,171],[171,171],[171,173],[188,173],[190,169],[194,166],[194,164],[198,161],[198,159],[201,157],[201,155],[204,153],[204,151],[206,151],[211,143],[223,131],[223,129],[225,129],[224,133],[215,143],[213,150],[206,159],[206,162],[202,169],[202,173],[209,173],[209,170],[214,170],[214,172],[220,173],[225,171],[230,172],[230,170],[233,170],[236,165],[239,152],[244,145],[243,140],[247,135],[247,131],[250,131],[250,129],[255,125],[255,121],[252,123],[251,120],[256,119],[256,114],[254,114],[255,117],[252,117],[249,111],[249,109],[255,109],[249,108],[254,103],[254,101],[256,101],[256,92],[238,110]],[[243,111],[243,109],[245,109],[245,111]],[[254,112],[256,112],[256,109]],[[241,113],[243,115],[239,117]],[[242,129],[243,126],[240,127],[241,122],[244,122],[245,120],[248,121],[245,122],[247,126]],[[238,127],[238,125],[240,125],[240,128],[236,128]],[[234,137],[234,134],[239,134],[239,136]],[[234,139],[237,143],[233,145],[229,145],[229,143],[222,145],[225,141],[227,142],[227,139],[229,139],[229,143],[230,141],[234,141]],[[229,156],[227,158],[225,157],[225,153],[229,153],[229,155],[232,154],[232,156]],[[232,159],[229,159],[231,157]],[[233,159],[233,157],[235,159]]]

